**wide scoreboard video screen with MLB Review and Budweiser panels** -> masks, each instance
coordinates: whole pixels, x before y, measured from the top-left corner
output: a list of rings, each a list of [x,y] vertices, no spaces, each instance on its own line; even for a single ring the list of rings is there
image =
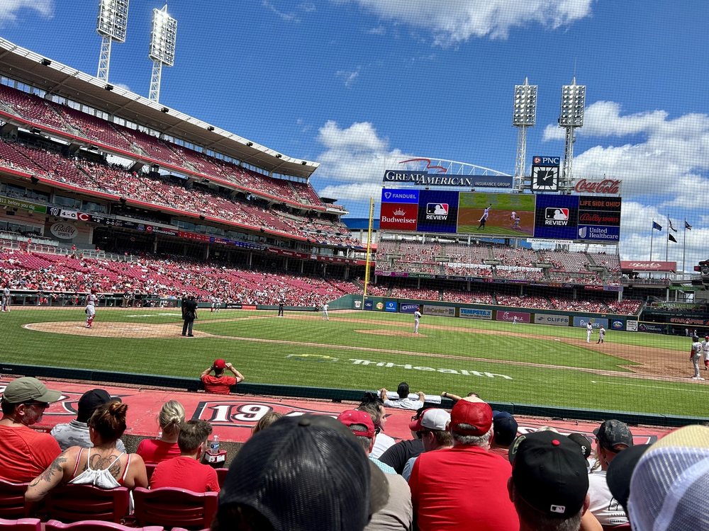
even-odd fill
[[[620,241],[621,198],[595,195],[381,190],[379,227],[398,232]]]

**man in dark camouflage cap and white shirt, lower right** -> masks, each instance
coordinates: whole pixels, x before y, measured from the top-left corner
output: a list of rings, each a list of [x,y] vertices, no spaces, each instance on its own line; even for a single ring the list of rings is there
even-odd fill
[[[588,474],[588,498],[591,499],[588,510],[604,527],[625,525],[628,523],[625,510],[610,493],[605,472],[616,455],[632,446],[632,433],[625,423],[615,419],[605,421],[593,433],[596,434],[596,457],[601,469]]]

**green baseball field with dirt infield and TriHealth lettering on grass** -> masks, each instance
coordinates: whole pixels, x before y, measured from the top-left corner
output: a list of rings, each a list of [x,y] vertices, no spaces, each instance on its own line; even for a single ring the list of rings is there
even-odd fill
[[[426,394],[475,391],[490,401],[706,416],[688,338],[408,314],[200,310],[195,337],[179,309],[13,309],[0,314],[2,361],[199,377],[225,358],[247,382]],[[702,370],[702,376],[707,372]],[[709,378],[708,378],[709,379]]]

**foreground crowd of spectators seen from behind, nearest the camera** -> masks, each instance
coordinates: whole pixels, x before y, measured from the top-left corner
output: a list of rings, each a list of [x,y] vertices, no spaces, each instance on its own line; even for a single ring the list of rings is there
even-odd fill
[[[118,442],[128,406],[103,389],[79,399],[85,422],[35,432],[60,397],[33,377],[13,379],[3,392],[0,479],[28,484],[30,515],[58,486],[91,484],[135,496],[148,487],[220,493],[212,531],[649,531],[659,518],[668,530],[709,525],[697,511],[709,477],[706,426],[643,445],[615,418],[601,422],[593,440],[549,426],[520,434],[512,414],[493,411],[475,393],[443,392],[453,402],[448,411],[427,406],[423,393],[410,399],[401,382],[396,399],[386,389],[367,393],[337,419],[266,413],[220,478],[205,462],[218,455],[208,445],[211,424],[186,421],[178,401],[160,411],[169,435],[145,438],[126,454]],[[391,408],[418,408],[410,438],[384,433]],[[67,433],[76,435],[60,447]]]

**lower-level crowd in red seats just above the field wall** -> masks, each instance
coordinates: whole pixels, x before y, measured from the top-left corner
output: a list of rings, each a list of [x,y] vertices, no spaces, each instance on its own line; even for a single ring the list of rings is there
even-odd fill
[[[189,258],[141,256],[133,261],[86,258],[80,253],[52,254],[28,252],[0,247],[0,284],[11,290],[43,292],[45,297],[58,294],[86,293],[95,289],[102,293],[149,295],[169,299],[184,292],[198,299],[215,298],[238,304],[286,304],[287,306],[320,307],[342,295],[362,293],[362,283],[317,275],[274,273],[268,270],[237,268],[233,265],[201,263]],[[564,311],[637,314],[637,300],[573,299],[538,295],[508,295],[493,289],[437,290],[413,287],[401,280],[379,277],[377,284],[367,287],[375,297],[394,297],[501,306],[562,309]]]

